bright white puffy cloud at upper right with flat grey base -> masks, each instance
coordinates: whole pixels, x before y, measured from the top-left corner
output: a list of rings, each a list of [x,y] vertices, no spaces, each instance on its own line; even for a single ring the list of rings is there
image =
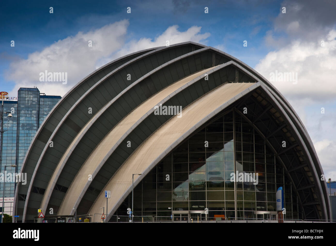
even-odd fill
[[[320,42],[293,41],[290,45],[269,52],[255,69],[266,79],[270,73],[297,73],[297,84],[271,82],[289,98],[309,98],[313,101],[334,98],[336,94],[336,31],[325,37],[325,46]]]

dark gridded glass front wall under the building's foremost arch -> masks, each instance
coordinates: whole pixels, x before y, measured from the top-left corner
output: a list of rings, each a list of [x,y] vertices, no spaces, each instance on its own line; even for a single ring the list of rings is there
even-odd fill
[[[207,208],[209,219],[257,218],[257,211],[275,211],[279,186],[291,204],[291,183],[285,180],[283,167],[265,141],[231,111],[181,143],[146,175],[139,184],[142,201],[137,202],[143,203],[143,215],[151,209],[153,216],[166,211],[168,217],[173,212],[174,218],[181,218],[178,211],[183,211],[197,218],[195,213]],[[297,201],[292,207],[286,211],[289,218],[298,213]]]

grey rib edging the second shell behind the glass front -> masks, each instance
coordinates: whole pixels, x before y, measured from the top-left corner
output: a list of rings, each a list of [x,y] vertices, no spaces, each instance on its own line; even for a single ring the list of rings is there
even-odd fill
[[[236,64],[235,62],[233,62],[233,61],[229,61],[229,62],[227,62],[227,63],[225,63],[225,64],[219,65],[219,66],[217,66],[217,67],[215,67],[215,68],[213,68],[213,69],[207,71],[206,73],[204,73],[204,74],[198,76],[197,78],[191,80],[191,81],[188,82],[187,84],[181,86],[181,87],[180,87],[179,89],[177,89],[175,92],[171,93],[171,94],[168,95],[166,98],[162,99],[162,101],[160,101],[160,102],[157,104],[157,106],[160,105],[160,104],[164,105],[169,99],[173,98],[176,94],[181,93],[182,91],[183,91],[183,92],[186,91],[186,89],[187,89],[189,86],[195,84],[196,82],[202,83],[202,81],[204,81],[204,76],[205,76],[205,74],[208,74],[208,76],[210,77],[210,76],[212,76],[213,73],[215,73],[215,72],[217,72],[217,71],[219,71],[219,70],[221,70],[221,69],[223,69],[223,68],[226,68],[226,67],[228,67],[228,66],[230,66],[230,65],[237,66],[237,64]],[[246,72],[246,73],[249,73],[249,72],[246,71],[245,69],[243,69],[243,68],[241,68],[241,69],[242,69],[243,73],[245,73],[245,72]],[[252,78],[252,79],[253,79],[253,78]],[[255,79],[256,79],[256,78],[255,78]],[[185,92],[185,93],[187,93],[187,92]],[[97,166],[96,170],[92,173],[92,178],[93,178],[93,180],[94,180],[94,178],[95,178],[95,175],[98,173],[98,171],[99,171],[99,170],[102,168],[102,166],[105,164],[106,160],[108,160],[108,159],[111,157],[112,153],[113,153],[113,152],[120,146],[120,144],[124,143],[123,141],[126,140],[126,138],[129,136],[129,134],[130,134],[132,131],[135,131],[135,130],[137,129],[137,126],[139,126],[139,125],[141,124],[141,122],[143,122],[143,121],[144,121],[146,118],[148,118],[150,115],[153,115],[153,112],[154,112],[154,108],[152,108],[150,111],[146,112],[146,113],[145,113],[141,118],[139,118],[139,120],[138,120],[138,121],[137,121],[137,122],[130,128],[130,129],[129,129],[129,131],[127,131],[127,133],[125,133],[125,134],[121,137],[121,139],[120,139],[120,140],[119,140],[119,141],[118,141],[118,142],[111,148],[111,150],[107,153],[107,155],[106,155],[106,156],[103,158],[103,160],[99,163],[99,165]],[[152,128],[151,130],[154,131],[155,128]],[[79,203],[80,203],[80,201],[81,201],[81,198],[83,198],[83,196],[84,196],[84,194],[85,194],[87,188],[89,187],[90,183],[91,183],[91,181],[87,180],[87,183],[86,183],[85,187],[82,189],[81,194],[78,196],[79,198],[77,199],[76,203],[75,203],[73,206],[71,206],[72,208],[76,208],[76,209],[77,209],[77,207],[78,207],[78,205],[79,205]],[[71,208],[68,208],[68,211],[69,211],[69,213],[71,213],[71,212],[72,212],[72,211],[71,211]],[[63,210],[63,211],[61,211],[60,213],[61,213],[61,214],[64,214],[64,213],[67,213],[67,211],[64,211],[64,210]]]

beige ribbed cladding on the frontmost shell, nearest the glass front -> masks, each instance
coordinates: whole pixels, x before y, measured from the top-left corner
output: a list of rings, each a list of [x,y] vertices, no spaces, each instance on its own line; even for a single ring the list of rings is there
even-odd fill
[[[142,173],[148,166],[198,121],[211,113],[223,102],[236,96],[252,83],[224,84],[194,101],[182,110],[182,117],[172,117],[151,135],[139,148],[123,163],[112,179],[105,186],[111,190],[109,207],[113,208],[123,193],[132,184],[132,173]],[[162,137],[164,135],[164,137]],[[136,179],[136,177],[134,177]],[[102,203],[106,203],[102,193],[98,195],[89,213],[96,213]]]

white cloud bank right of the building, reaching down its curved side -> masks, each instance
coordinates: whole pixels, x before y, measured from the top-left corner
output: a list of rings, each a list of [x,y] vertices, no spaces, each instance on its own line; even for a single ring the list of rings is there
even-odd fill
[[[287,33],[301,29],[303,22],[292,21],[284,25]],[[277,28],[275,28],[276,30]],[[312,30],[313,32],[315,30]],[[303,121],[309,136],[314,139],[326,178],[336,180],[336,132],[334,126],[333,103],[336,95],[336,30],[329,29],[326,34],[318,31],[314,38],[303,37],[286,40],[276,39],[274,30],[267,32],[265,42],[277,47],[269,52],[255,66],[255,70],[270,80],[270,73],[297,73],[297,84],[290,81],[270,81],[293,106]],[[318,40],[317,36],[322,36]],[[321,46],[324,40],[324,47]],[[321,107],[326,114],[321,114]]]

